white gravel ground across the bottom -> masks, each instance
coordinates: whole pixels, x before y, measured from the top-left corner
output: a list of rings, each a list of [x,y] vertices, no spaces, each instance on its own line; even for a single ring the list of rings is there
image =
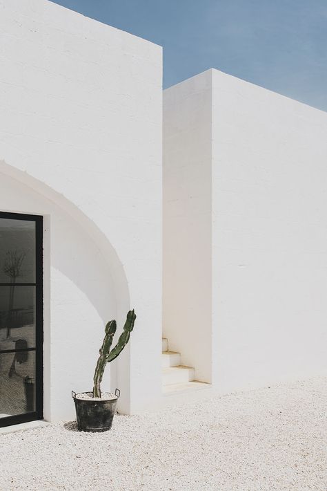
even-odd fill
[[[75,423],[0,435],[10,490],[327,490],[327,380],[233,393],[112,430]]]

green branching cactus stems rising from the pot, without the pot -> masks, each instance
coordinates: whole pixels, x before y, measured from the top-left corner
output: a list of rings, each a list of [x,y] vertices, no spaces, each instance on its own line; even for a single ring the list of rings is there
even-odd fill
[[[106,368],[106,364],[115,360],[117,356],[123,351],[128,340],[130,339],[130,333],[134,328],[136,315],[134,310],[129,311],[126,317],[126,322],[123,326],[123,332],[119,336],[119,340],[115,346],[115,348],[111,349],[112,340],[114,339],[114,335],[117,329],[117,323],[115,320],[110,320],[108,324],[106,324],[105,328],[105,336],[103,339],[102,346],[99,350],[99,358],[97,360],[97,366],[95,367],[95,376],[93,377],[93,397],[101,397],[101,381],[103,377],[104,369]],[[111,349],[111,350],[110,350]]]

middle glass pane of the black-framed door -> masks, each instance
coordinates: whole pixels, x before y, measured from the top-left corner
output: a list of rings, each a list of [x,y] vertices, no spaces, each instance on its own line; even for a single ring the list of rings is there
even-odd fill
[[[35,286],[0,286],[0,351],[35,347]]]

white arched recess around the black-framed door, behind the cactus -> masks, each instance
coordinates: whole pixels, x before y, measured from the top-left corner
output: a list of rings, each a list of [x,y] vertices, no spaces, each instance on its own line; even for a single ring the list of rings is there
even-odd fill
[[[72,418],[70,391],[92,385],[103,324],[129,308],[126,275],[107,237],[65,196],[3,161],[0,173],[0,210],[44,216],[45,418]],[[113,370],[111,378],[113,386]]]

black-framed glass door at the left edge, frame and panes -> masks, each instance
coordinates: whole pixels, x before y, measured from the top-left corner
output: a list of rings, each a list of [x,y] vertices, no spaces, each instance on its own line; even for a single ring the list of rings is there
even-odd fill
[[[43,418],[43,216],[0,212],[0,427]]]

